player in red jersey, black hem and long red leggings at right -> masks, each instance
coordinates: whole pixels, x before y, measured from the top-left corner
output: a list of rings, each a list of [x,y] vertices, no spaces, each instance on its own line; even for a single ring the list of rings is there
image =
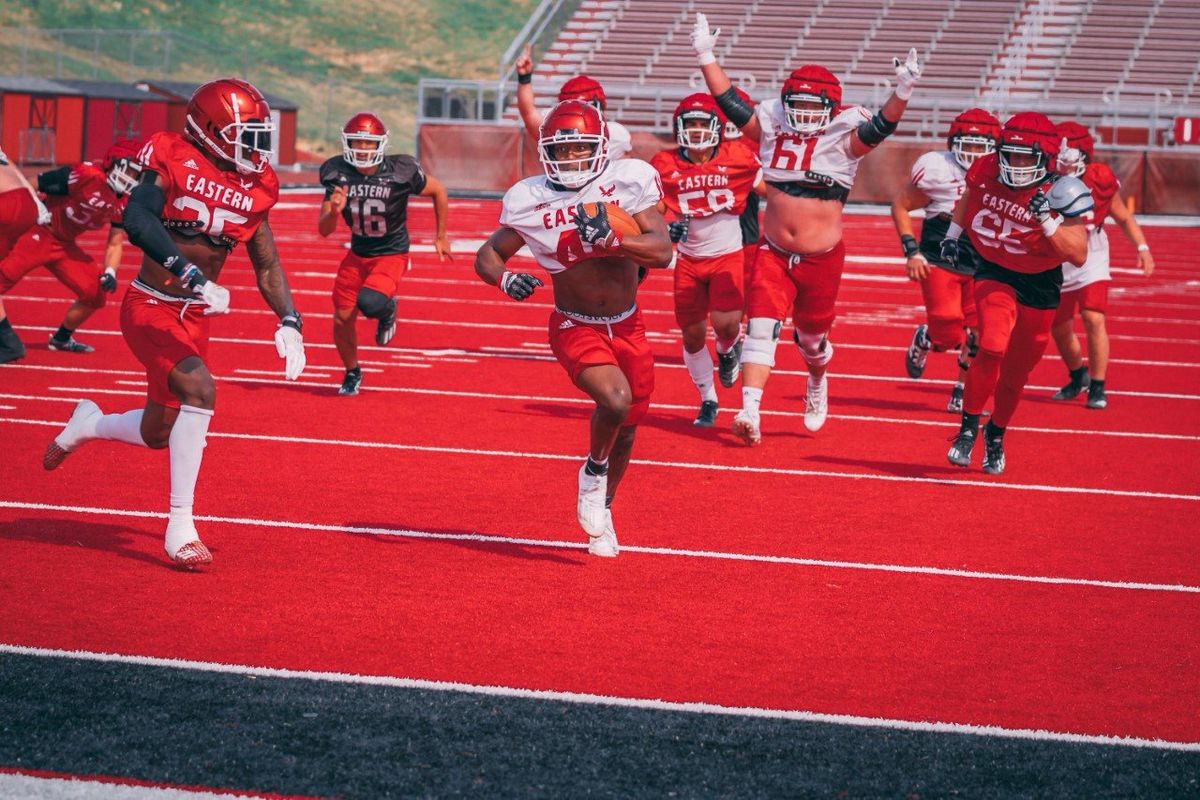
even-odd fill
[[[942,239],[942,259],[952,265],[959,260],[964,229],[978,254],[979,353],[967,369],[962,425],[947,453],[958,467],[971,465],[979,416],[995,392],[983,469],[1004,471],[1004,429],[1050,342],[1063,261],[1087,259],[1092,193],[1078,178],[1055,174],[1058,143],[1044,114],[1010,116],[996,152],[967,170],[966,191]]]

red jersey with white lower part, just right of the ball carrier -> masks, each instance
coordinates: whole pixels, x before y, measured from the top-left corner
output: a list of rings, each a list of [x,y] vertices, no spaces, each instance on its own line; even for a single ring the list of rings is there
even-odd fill
[[[702,164],[684,157],[680,148],[662,150],[650,166],[662,179],[662,200],[677,216],[691,217],[688,239],[679,252],[696,258],[724,255],[742,248],[738,222],[746,198],[762,179],[762,166],[752,150],[738,140],[722,142]]]

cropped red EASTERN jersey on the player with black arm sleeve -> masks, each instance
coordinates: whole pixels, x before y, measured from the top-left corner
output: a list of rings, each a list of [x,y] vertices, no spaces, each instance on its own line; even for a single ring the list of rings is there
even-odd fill
[[[155,133],[138,161],[162,180],[166,228],[185,235],[204,234],[229,249],[254,235],[280,199],[280,180],[270,166],[251,175],[221,169],[180,133]]]

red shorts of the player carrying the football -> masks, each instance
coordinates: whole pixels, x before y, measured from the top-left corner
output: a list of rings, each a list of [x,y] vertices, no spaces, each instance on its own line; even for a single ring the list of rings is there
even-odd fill
[[[550,314],[550,349],[571,381],[588,367],[613,365],[629,381],[632,404],[623,426],[637,425],[650,408],[654,391],[654,354],[646,341],[642,311],[619,323],[582,323],[557,308]]]

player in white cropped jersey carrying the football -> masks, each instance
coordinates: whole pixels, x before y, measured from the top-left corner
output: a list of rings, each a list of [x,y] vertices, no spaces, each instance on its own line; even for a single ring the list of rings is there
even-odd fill
[[[668,266],[672,255],[658,210],[662,190],[644,161],[608,158],[608,126],[583,101],[564,101],[546,115],[538,154],[546,174],[524,179],[504,196],[500,228],[479,248],[475,272],[514,300],[526,300],[541,279],[505,264],[528,245],[551,275],[551,349],[596,404],[576,516],[588,551],[614,557],[611,505],[654,389],[654,356],[636,302],[637,271],[638,265]],[[614,227],[605,204],[630,215],[638,233]]]

